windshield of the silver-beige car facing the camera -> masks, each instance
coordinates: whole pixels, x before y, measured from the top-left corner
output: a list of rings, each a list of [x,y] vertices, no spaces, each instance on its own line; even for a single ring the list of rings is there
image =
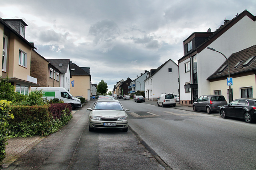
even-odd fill
[[[124,110],[119,102],[96,102],[94,110]]]

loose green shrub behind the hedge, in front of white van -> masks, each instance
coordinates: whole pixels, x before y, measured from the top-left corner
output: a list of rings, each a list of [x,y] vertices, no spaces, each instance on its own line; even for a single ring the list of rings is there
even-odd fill
[[[42,90],[39,91],[34,91],[28,94],[26,100],[24,102],[22,102],[22,105],[25,106],[43,106],[45,104],[47,104],[47,102],[45,102],[45,99],[42,98],[43,97],[43,93]]]

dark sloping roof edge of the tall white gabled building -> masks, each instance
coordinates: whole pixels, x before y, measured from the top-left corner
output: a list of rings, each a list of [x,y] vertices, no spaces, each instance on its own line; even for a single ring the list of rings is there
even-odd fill
[[[182,58],[180,58],[178,61],[184,59],[185,57],[187,57],[189,54],[194,53],[195,51],[197,53],[200,53],[202,50],[204,50],[206,47],[208,47],[208,45],[210,45],[210,43],[214,42],[218,37],[220,37],[223,33],[225,33],[228,29],[230,29],[233,25],[235,25],[238,21],[240,21],[242,18],[244,18],[245,16],[248,16],[250,19],[252,19],[253,21],[256,21],[256,16],[252,15],[250,12],[248,12],[247,10],[244,10],[241,14],[236,15],[235,18],[233,18],[232,20],[228,21],[226,24],[221,25],[218,29],[216,29],[212,35],[206,40],[204,41],[201,45],[199,45],[196,49],[194,49],[193,51],[191,51],[190,53],[188,53],[187,55],[183,56]],[[194,33],[193,33],[194,34]],[[193,35],[192,34],[192,35]],[[191,36],[191,35],[190,35]],[[189,36],[189,37],[190,37]],[[188,39],[188,38],[187,38]],[[185,40],[186,41],[186,40]]]

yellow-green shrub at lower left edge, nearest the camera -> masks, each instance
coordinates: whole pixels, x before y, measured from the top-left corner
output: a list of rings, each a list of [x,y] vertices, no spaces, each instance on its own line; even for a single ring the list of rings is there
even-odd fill
[[[9,111],[10,104],[6,100],[0,100],[0,162],[4,159],[6,154],[5,145],[8,137],[8,119],[13,119],[14,116]]]

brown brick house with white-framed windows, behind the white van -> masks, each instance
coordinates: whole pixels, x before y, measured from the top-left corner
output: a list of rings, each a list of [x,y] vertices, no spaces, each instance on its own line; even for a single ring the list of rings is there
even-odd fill
[[[30,75],[40,87],[60,87],[61,72],[34,49],[31,51]]]

